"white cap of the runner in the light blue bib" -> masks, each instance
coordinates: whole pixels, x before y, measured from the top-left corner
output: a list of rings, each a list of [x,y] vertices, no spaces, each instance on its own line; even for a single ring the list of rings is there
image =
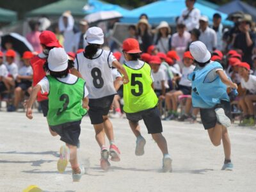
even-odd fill
[[[189,51],[193,58],[199,63],[205,63],[211,60],[211,52],[207,50],[207,47],[203,42],[196,41],[190,44]]]

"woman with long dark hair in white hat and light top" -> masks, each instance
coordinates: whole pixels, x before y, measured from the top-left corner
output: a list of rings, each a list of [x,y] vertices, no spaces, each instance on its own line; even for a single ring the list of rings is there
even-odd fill
[[[168,52],[171,49],[171,28],[166,21],[162,21],[157,26],[157,36],[155,45],[159,49],[159,52]]]

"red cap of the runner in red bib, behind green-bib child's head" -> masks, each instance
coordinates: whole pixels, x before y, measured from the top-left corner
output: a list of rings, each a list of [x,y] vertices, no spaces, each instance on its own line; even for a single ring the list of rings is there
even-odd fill
[[[46,47],[62,47],[52,31],[43,31],[40,36],[40,43]]]

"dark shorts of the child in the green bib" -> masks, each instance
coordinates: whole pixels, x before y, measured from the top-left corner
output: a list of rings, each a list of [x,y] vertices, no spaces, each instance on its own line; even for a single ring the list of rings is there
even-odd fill
[[[76,122],[65,123],[51,126],[51,130],[60,135],[60,140],[70,145],[77,146],[81,132],[81,120]]]

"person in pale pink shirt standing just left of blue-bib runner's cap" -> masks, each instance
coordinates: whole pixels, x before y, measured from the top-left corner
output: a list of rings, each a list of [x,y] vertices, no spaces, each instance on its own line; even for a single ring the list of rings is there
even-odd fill
[[[182,58],[190,41],[191,35],[186,31],[186,26],[182,23],[177,24],[177,33],[172,36],[172,50],[176,51],[179,57]],[[179,64],[183,65],[182,63]]]

